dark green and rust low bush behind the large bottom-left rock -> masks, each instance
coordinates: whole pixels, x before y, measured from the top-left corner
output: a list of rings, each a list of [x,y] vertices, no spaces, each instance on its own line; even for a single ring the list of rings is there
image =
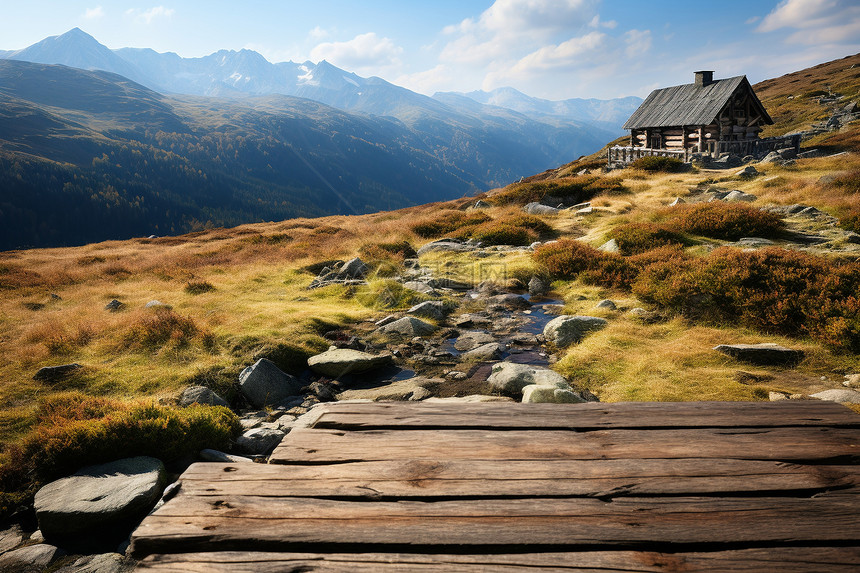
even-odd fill
[[[241,432],[227,408],[126,404],[79,393],[44,400],[37,426],[0,458],[0,519],[28,503],[44,483],[83,466],[125,457],[168,462],[201,449],[228,449]]]

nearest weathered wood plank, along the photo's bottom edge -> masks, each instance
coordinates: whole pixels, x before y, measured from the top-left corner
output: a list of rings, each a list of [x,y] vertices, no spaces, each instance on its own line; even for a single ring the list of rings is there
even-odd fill
[[[255,553],[212,552],[151,555],[139,570],[159,573],[274,573],[282,571],[350,571],[388,573],[427,571],[502,573],[539,569],[542,572],[663,572],[736,571],[738,573],[853,572],[860,563],[857,547],[779,547],[698,553],[648,551],[588,551],[491,555],[409,553]]]

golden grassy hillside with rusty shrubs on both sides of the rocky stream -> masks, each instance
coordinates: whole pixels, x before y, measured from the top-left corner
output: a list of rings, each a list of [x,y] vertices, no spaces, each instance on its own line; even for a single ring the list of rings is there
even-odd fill
[[[845,67],[840,62],[813,68],[811,77],[830,77]],[[840,89],[848,93],[849,84]],[[776,87],[763,91],[770,89]],[[807,98],[804,105],[798,113],[817,119],[811,110],[818,104]],[[788,130],[794,123],[785,117],[779,125]],[[169,404],[185,386],[203,384],[231,399],[239,372],[260,357],[298,374],[309,355],[328,347],[326,333],[366,331],[368,320],[420,300],[387,282],[403,271],[405,249],[392,245],[418,248],[440,236],[560,240],[534,253],[428,253],[419,260],[438,276],[466,281],[491,262],[495,278],[512,289],[541,276],[552,281],[566,313],[610,318],[554,365],[603,401],[764,400],[769,392],[839,386],[844,374],[860,372],[860,245],[847,235],[860,231],[858,133],[855,122],[813,142],[848,153],[758,164],[761,175],[752,179],[733,170],[600,173],[592,157],[485,194],[491,205],[481,211],[466,211],[474,200],[463,199],[0,253],[0,442],[36,439],[46,400],[71,400],[70,392],[112,404]],[[583,169],[590,173],[578,175]],[[746,208],[701,201],[712,187],[757,199]],[[546,195],[590,201],[593,210],[523,216],[524,203]],[[676,197],[714,211],[696,219],[695,205],[667,210]],[[825,215],[758,209],[797,203]],[[745,250],[736,240],[748,236],[775,245]],[[620,254],[594,249],[610,238]],[[367,285],[307,289],[326,261],[357,255],[371,264]],[[595,310],[604,298],[619,310]],[[105,309],[113,299],[125,305],[119,312]],[[167,306],[145,308],[153,300]],[[645,314],[629,312],[636,307]],[[459,312],[468,309],[463,303]],[[806,358],[763,368],[712,350],[734,342],[778,342]],[[67,363],[83,368],[56,382],[33,378],[41,367]],[[17,459],[10,452],[7,446],[7,467]],[[13,487],[3,479],[0,472],[0,486]]]

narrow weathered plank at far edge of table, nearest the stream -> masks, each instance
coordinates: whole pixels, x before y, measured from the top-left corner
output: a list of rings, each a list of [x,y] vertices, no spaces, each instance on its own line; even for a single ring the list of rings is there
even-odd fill
[[[587,404],[344,403],[317,406],[313,427],[384,428],[706,428],[860,427],[860,415],[819,400]]]

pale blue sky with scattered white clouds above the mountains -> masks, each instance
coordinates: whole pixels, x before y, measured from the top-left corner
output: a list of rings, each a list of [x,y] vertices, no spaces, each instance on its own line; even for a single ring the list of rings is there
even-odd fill
[[[253,49],[409,89],[644,97],[692,72],[755,83],[860,52],[857,0],[63,0],[8,3],[0,49],[80,27],[110,48]]]

